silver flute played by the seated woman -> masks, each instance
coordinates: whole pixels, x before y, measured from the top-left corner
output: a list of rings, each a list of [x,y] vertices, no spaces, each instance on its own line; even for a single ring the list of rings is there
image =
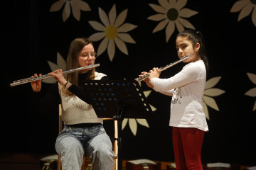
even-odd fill
[[[77,69],[70,69],[68,71],[65,71],[63,72],[63,74],[68,74],[68,73],[72,73],[72,72],[78,72],[82,69],[90,69],[90,68],[93,68],[93,67],[98,67],[100,66],[100,64],[92,64],[92,65],[89,65],[89,66],[86,66],[86,67],[79,67]],[[20,85],[20,84],[26,84],[26,83],[29,83],[31,81],[38,81],[38,80],[41,80],[41,79],[48,79],[52,76],[50,76],[49,74],[44,74],[42,76],[38,76],[38,77],[29,77],[29,78],[26,78],[26,79],[19,79],[19,80],[16,80],[14,81],[12,84],[10,84],[10,86],[17,86],[17,85]]]

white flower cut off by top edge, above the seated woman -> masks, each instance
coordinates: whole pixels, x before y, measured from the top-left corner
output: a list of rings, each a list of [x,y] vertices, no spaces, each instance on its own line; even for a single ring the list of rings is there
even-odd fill
[[[80,10],[82,11],[90,11],[90,6],[81,0],[59,0],[56,1],[52,6],[50,6],[50,12],[59,11],[63,5],[65,7],[63,9],[63,22],[65,22],[70,16],[70,6],[72,8],[72,13],[75,19],[80,20]]]

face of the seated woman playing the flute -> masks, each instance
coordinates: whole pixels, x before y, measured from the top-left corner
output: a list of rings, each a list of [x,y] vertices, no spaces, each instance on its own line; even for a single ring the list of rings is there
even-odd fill
[[[79,67],[86,67],[95,64],[95,54],[96,53],[92,44],[85,45],[85,47],[82,48],[78,57]],[[88,72],[90,69],[82,69],[80,73]]]

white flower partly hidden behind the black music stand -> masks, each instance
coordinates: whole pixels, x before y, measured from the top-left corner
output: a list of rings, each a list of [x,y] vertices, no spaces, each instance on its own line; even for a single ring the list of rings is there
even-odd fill
[[[139,82],[139,85],[142,86],[141,82]],[[151,93],[151,90],[143,91],[143,93],[144,93],[145,97],[147,98],[149,96],[149,94]],[[154,106],[151,106],[151,104],[149,104],[149,106],[151,107],[152,111],[156,111],[156,108],[154,108]],[[149,128],[149,124],[147,123],[146,119],[124,118],[124,120],[122,122],[122,130],[127,125],[127,122],[129,122],[129,128],[131,129],[134,136],[136,136],[136,134],[137,134],[137,123],[145,126],[146,128]]]

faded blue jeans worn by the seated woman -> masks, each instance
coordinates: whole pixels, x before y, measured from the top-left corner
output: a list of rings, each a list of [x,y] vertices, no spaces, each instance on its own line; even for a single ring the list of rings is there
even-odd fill
[[[80,170],[83,155],[90,157],[94,170],[114,169],[112,142],[102,125],[89,128],[64,126],[56,139],[55,149],[60,154],[63,170]]]

